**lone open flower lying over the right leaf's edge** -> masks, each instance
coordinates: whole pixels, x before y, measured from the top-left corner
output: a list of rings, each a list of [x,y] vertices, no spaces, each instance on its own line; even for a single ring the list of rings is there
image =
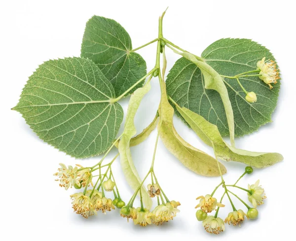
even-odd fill
[[[279,71],[276,69],[276,64],[273,60],[265,61],[265,57],[257,62],[257,68],[260,69],[259,79],[263,80],[265,84],[269,85],[272,89],[271,83],[276,84],[277,80],[280,78]]]

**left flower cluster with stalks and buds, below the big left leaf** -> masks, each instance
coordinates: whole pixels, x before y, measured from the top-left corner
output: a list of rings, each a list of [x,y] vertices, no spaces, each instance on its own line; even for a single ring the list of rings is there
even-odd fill
[[[76,189],[84,187],[83,192],[70,195],[74,212],[76,212],[77,214],[81,214],[84,218],[88,218],[94,214],[97,214],[97,211],[99,210],[101,210],[102,213],[106,214],[107,211],[111,211],[112,209],[115,209],[115,207],[121,208],[125,206],[125,203],[121,200],[119,196],[117,187],[116,192],[114,191],[116,183],[111,172],[112,162],[104,166],[105,168],[108,167],[107,171],[104,174],[101,174],[102,168],[100,165],[99,168],[96,168],[96,166],[98,165],[95,165],[91,168],[83,168],[80,165],[76,165],[77,167],[75,168],[73,168],[72,166],[69,166],[67,168],[66,165],[60,164],[61,168],[58,169],[59,172],[56,172],[54,175],[58,176],[57,181],[60,181],[61,187],[64,187],[66,190],[69,187],[73,186]],[[78,169],[78,167],[80,169]],[[94,176],[92,175],[92,172],[96,170],[99,170],[100,174],[96,175],[99,177],[95,182],[95,185],[93,185],[92,179],[94,178]],[[104,181],[108,172],[109,178]],[[89,183],[93,188],[88,190],[87,188],[90,186]],[[113,200],[111,198],[105,197],[105,192],[111,191],[113,191],[114,195]]]

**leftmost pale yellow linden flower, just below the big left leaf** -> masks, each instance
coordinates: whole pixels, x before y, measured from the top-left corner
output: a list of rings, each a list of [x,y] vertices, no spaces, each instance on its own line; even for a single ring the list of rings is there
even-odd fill
[[[74,184],[80,186],[80,183],[77,180],[77,167],[68,166],[65,164],[59,164],[61,168],[58,169],[59,172],[54,173],[54,176],[58,176],[56,181],[60,181],[60,187],[65,187],[68,190],[69,187],[73,187]]]

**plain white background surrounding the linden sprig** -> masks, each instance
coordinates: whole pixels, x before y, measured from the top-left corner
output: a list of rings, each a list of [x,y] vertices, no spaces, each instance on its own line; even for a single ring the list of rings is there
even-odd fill
[[[289,3],[288,3],[289,2]],[[21,115],[10,110],[18,102],[28,76],[49,59],[79,56],[86,21],[92,15],[118,21],[130,34],[133,47],[157,37],[158,16],[169,6],[164,18],[164,36],[186,50],[200,55],[212,42],[222,37],[252,38],[276,57],[282,74],[279,102],[272,115],[273,123],[258,132],[236,139],[236,146],[253,151],[276,151],[284,162],[265,170],[255,170],[241,185],[247,187],[260,179],[267,199],[259,207],[259,219],[246,221],[242,227],[226,225],[221,240],[283,238],[293,232],[295,203],[295,6],[292,1],[102,1],[49,0],[1,1],[0,3],[0,149],[1,149],[1,240],[99,240],[110,238],[142,240],[155,238],[197,240],[214,239],[195,218],[195,198],[210,193],[219,177],[207,178],[187,170],[159,142],[155,172],[170,199],[180,201],[181,213],[160,227],[142,228],[127,223],[114,210],[107,215],[83,219],[71,208],[69,195],[58,187],[52,175],[58,163],[90,166],[100,157],[75,160],[47,145],[32,132]],[[155,61],[155,44],[140,50],[148,69]],[[167,50],[168,69],[178,56]],[[120,102],[124,109],[128,100]],[[152,120],[159,103],[158,81],[144,98],[136,115],[141,132]],[[213,155],[177,117],[174,124],[180,135],[192,145]],[[122,127],[120,132],[122,132]],[[132,148],[135,165],[143,177],[150,165],[154,131],[148,140]],[[115,150],[111,155],[115,155]],[[234,181],[244,165],[224,163],[228,182]],[[124,180],[119,161],[114,163],[115,177],[125,201],[132,195]],[[240,193],[240,192],[238,192]],[[220,193],[218,192],[220,195]],[[246,199],[245,193],[240,193]],[[217,196],[219,198],[219,196]],[[222,218],[230,211],[226,199]],[[237,203],[237,206],[239,203]],[[241,206],[238,206],[241,207]],[[3,239],[2,239],[3,238]]]

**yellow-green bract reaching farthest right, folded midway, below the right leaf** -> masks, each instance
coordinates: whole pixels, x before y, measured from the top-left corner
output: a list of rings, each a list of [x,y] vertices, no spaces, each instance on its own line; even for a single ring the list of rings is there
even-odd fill
[[[232,147],[223,140],[217,126],[185,107],[181,108],[177,104],[176,107],[192,130],[206,144],[214,145],[217,157],[222,160],[242,162],[257,168],[265,168],[283,160],[279,153],[253,152]]]

